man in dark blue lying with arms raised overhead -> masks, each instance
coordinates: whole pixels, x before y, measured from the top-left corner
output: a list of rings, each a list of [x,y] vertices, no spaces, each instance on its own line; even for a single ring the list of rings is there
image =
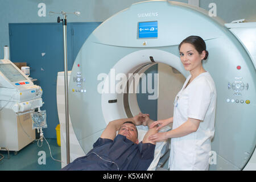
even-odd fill
[[[148,114],[142,113],[133,118],[109,122],[101,137],[93,144],[93,149],[61,170],[147,170],[154,159],[155,151],[155,142],[148,140],[148,137],[158,132],[156,127],[149,129],[152,122]],[[140,143],[135,125],[148,126],[149,129]]]

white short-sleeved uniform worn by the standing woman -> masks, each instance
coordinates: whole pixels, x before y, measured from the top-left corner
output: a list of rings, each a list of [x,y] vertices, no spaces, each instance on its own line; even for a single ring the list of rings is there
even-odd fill
[[[211,139],[214,135],[216,88],[209,72],[201,73],[188,86],[191,75],[174,102],[174,123],[176,129],[188,118],[202,122],[195,133],[171,139],[169,159],[170,170],[208,170]],[[185,88],[185,89],[184,89]]]

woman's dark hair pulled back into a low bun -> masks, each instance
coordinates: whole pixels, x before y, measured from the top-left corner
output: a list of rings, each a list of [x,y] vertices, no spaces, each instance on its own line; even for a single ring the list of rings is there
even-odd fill
[[[192,44],[196,48],[196,51],[199,52],[200,54],[203,51],[205,51],[205,57],[203,60],[207,59],[209,52],[206,49],[206,44],[205,44],[204,40],[200,36],[195,36],[195,35],[188,36],[187,38],[182,40],[182,42],[179,44],[179,50],[183,43]]]

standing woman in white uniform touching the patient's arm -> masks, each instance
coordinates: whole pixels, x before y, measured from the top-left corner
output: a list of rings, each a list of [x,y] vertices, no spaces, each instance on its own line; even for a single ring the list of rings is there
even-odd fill
[[[172,130],[151,135],[153,142],[171,138],[170,170],[208,170],[211,139],[214,135],[216,88],[202,61],[208,57],[205,42],[189,36],[179,45],[187,77],[174,102],[174,117],[155,121],[151,127],[173,123]]]

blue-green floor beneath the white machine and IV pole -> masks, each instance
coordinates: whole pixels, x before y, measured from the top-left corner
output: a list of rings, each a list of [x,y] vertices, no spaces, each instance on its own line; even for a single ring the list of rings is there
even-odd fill
[[[56,160],[61,159],[60,147],[56,139],[47,139],[51,148],[52,157]],[[39,142],[39,146],[41,143]],[[61,163],[53,160],[50,155],[49,147],[46,140],[43,141],[42,147],[34,141],[28,146],[15,154],[10,151],[8,159],[7,151],[0,151],[5,156],[0,161],[0,171],[57,171],[61,169]],[[1,158],[1,156],[0,156]]]

